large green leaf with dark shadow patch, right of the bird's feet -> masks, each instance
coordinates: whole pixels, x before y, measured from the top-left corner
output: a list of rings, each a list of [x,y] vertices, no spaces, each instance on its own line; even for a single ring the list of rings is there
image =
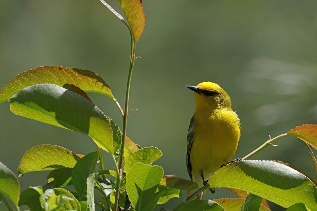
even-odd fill
[[[225,178],[225,179],[224,179]],[[317,188],[308,177],[287,165],[265,160],[243,160],[216,171],[206,188],[236,188],[288,208],[302,202],[317,210]]]

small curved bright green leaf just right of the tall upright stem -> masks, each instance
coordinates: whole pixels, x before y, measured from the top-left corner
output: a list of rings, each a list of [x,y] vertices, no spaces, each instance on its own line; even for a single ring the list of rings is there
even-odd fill
[[[124,162],[123,171],[128,173],[133,164],[141,162],[144,164],[152,164],[162,156],[162,152],[154,147],[145,147],[133,152]]]

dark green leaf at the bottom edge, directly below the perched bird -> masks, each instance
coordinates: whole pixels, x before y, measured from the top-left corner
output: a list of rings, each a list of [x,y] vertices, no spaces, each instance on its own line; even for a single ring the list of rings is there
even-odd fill
[[[224,211],[224,209],[214,201],[211,200],[192,200],[179,204],[172,211]],[[227,211],[227,210],[226,210]]]

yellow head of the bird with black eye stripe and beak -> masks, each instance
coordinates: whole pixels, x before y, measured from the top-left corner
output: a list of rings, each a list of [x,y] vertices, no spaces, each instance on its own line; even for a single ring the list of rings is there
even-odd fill
[[[197,86],[186,86],[195,92],[196,109],[231,108],[229,95],[218,84],[203,82]]]

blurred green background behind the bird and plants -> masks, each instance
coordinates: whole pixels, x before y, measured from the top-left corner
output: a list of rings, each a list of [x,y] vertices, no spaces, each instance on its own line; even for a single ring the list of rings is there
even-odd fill
[[[118,2],[107,1],[121,14]],[[317,1],[143,1],[144,32],[137,42],[127,135],[156,146],[165,174],[189,179],[186,134],[195,109],[184,85],[212,81],[231,96],[242,132],[241,158],[301,124],[317,123]],[[124,106],[130,34],[100,1],[0,1],[0,87],[15,75],[43,65],[88,69],[105,79]],[[119,126],[120,114],[106,96],[89,94]],[[39,144],[87,154],[90,138],[12,114],[0,104],[0,161],[16,172],[23,153]],[[121,127],[122,128],[122,127]],[[306,146],[287,137],[251,159],[282,160],[316,178]],[[108,168],[111,160],[105,155]],[[44,185],[48,172],[27,173],[22,190]],[[184,193],[185,194],[185,193]],[[226,189],[206,199],[234,197]],[[171,209],[182,199],[172,199]],[[285,210],[271,207],[272,210]],[[0,204],[0,210],[5,210]],[[155,209],[159,210],[159,206]]]

